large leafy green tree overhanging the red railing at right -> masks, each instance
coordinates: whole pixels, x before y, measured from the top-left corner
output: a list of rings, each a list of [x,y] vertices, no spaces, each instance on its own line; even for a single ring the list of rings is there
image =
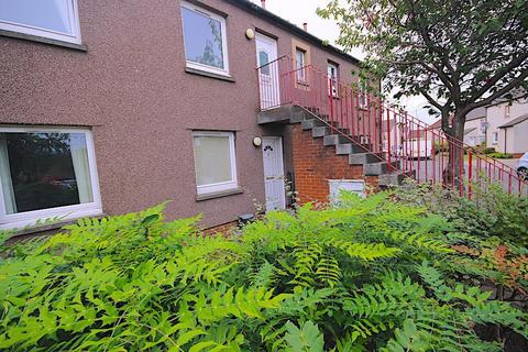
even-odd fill
[[[424,96],[450,140],[463,140],[470,111],[528,91],[528,0],[332,0],[318,12],[395,98]],[[449,180],[461,157],[450,153]]]

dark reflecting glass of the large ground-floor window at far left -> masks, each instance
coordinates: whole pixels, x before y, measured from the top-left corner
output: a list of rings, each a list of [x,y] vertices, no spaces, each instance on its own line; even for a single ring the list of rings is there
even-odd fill
[[[7,213],[94,201],[85,133],[0,133]]]

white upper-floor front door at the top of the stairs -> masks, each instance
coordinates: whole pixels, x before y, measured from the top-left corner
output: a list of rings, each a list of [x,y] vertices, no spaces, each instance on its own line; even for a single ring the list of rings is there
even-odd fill
[[[278,87],[277,41],[261,33],[255,35],[256,66],[258,69],[258,84],[261,89],[261,108],[270,109],[280,103],[280,89]],[[266,65],[271,63],[270,65]]]

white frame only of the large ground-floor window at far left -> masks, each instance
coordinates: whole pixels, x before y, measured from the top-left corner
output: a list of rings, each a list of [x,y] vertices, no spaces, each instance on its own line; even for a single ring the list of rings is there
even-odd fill
[[[6,212],[6,201],[3,199],[2,185],[0,184],[0,230],[22,229],[31,227],[37,220],[50,218],[61,218],[61,220],[72,220],[84,217],[94,217],[102,213],[101,196],[99,193],[99,177],[97,173],[96,153],[94,147],[94,136],[90,130],[76,128],[48,128],[48,127],[1,127],[0,132],[4,133],[85,133],[86,146],[88,153],[88,166],[90,169],[91,191],[94,200],[91,202],[56,207],[51,209],[40,209],[18,213]]]

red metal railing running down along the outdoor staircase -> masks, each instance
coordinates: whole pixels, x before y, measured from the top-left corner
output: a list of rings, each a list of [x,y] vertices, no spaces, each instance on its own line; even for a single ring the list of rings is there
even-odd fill
[[[258,67],[257,75],[262,110],[301,107],[387,162],[389,173],[402,172],[469,197],[474,187],[493,183],[510,194],[528,194],[528,184],[510,166],[311,65],[296,67],[289,56],[282,56]]]

